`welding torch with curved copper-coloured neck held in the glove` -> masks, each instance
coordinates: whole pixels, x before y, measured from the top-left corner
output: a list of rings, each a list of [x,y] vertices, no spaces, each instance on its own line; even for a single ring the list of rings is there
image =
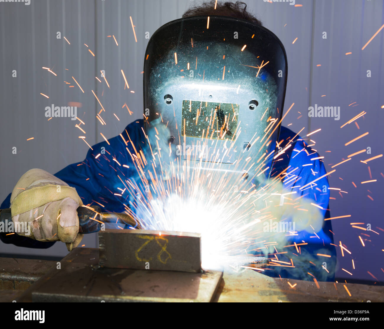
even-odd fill
[[[100,231],[103,223],[123,223],[138,230],[142,229],[133,217],[126,213],[101,212],[99,206],[77,208],[79,217],[79,233],[88,234]],[[120,220],[120,221],[119,221]],[[0,209],[0,222],[4,225],[12,222],[11,208]]]

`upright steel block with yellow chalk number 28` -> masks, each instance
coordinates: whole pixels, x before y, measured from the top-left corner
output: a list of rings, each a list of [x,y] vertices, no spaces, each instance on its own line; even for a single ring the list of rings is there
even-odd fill
[[[99,231],[99,265],[107,268],[201,271],[198,233],[152,230]]]

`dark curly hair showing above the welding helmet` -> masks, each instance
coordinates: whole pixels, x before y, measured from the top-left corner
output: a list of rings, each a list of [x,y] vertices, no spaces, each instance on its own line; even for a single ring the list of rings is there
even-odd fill
[[[215,9],[216,5],[216,9]],[[259,21],[255,16],[247,12],[247,4],[244,2],[217,2],[211,0],[204,2],[201,5],[189,8],[182,16],[182,18],[193,17],[193,16],[228,16],[234,18],[242,18],[243,20],[250,21],[254,24],[263,26],[262,22]]]

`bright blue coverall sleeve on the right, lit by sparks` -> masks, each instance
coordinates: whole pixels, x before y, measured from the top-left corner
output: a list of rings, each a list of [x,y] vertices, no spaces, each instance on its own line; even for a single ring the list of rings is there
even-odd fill
[[[283,180],[285,188],[296,191],[294,198],[303,197],[316,204],[323,217],[323,224],[319,231],[298,231],[297,235],[288,236],[288,247],[278,250],[287,252],[278,255],[279,260],[290,263],[292,259],[294,268],[271,266],[270,270],[263,273],[273,277],[281,275],[283,278],[311,281],[314,276],[318,281],[334,281],[336,248],[333,245],[331,221],[326,220],[330,217],[329,183],[327,176],[324,176],[327,173],[324,163],[316,159],[319,155],[300,139],[286,157],[286,165],[290,166],[287,173],[290,174]],[[299,245],[297,249],[295,243]]]

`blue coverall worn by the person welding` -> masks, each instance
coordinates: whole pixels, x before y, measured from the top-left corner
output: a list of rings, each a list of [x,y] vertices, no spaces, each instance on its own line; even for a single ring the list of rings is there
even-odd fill
[[[143,120],[137,120],[129,124],[122,132],[122,136],[126,141],[129,141],[127,133],[129,134],[136,150],[141,149],[146,144],[142,127]],[[295,136],[296,134],[290,129],[281,127],[279,140],[285,140],[282,145]],[[131,156],[126,151],[127,146],[124,144],[121,137],[116,136],[108,141],[110,145],[105,141],[94,145],[92,147],[93,150],[88,150],[87,156],[82,162],[68,165],[57,172],[55,176],[66,182],[68,185],[76,188],[76,191],[84,204],[95,204],[94,201],[97,201],[104,205],[102,211],[124,212],[123,203],[127,204],[125,200],[126,196],[119,197],[114,195],[118,187],[124,189],[118,175],[125,178],[134,177],[137,175],[136,169],[132,163]],[[323,210],[321,210],[323,217],[329,218],[329,185],[326,177],[311,184],[309,188],[306,188],[305,190],[300,191],[299,188],[296,188],[298,186],[304,186],[314,179],[326,174],[322,161],[319,159],[310,160],[311,158],[318,157],[318,155],[306,145],[307,144],[305,141],[301,140],[300,136],[296,136],[292,147],[282,155],[283,160],[272,163],[273,157],[270,157],[270,163],[267,164],[267,166],[271,167],[271,165],[273,165],[271,172],[272,177],[279,174],[288,166],[290,166],[290,170],[287,170],[287,172],[297,168],[291,173],[297,177],[291,179],[291,182],[285,186],[293,188],[293,190],[297,192],[295,197],[304,194],[306,198],[312,199],[314,203],[323,208]],[[105,147],[106,152],[96,159],[95,157],[100,153],[101,147]],[[134,153],[130,143],[128,143],[128,148]],[[115,158],[121,165],[112,160],[113,158]],[[303,166],[303,164],[310,163],[312,165]],[[122,167],[123,164],[129,166],[129,168]],[[288,177],[286,180],[287,179]],[[9,194],[3,201],[1,208],[9,208],[10,195],[11,194]],[[17,246],[31,248],[48,248],[55,243],[40,242],[19,235],[6,236],[4,233],[0,233],[0,238],[4,243],[13,243]],[[303,245],[303,241],[308,244]],[[278,259],[280,261],[286,261],[287,263],[290,263],[292,259],[295,267],[269,266],[268,269],[263,272],[264,274],[269,276],[280,275],[282,278],[312,280],[313,277],[308,274],[309,272],[313,274],[318,281],[334,281],[336,248],[333,245],[333,233],[331,232],[330,220],[324,221],[323,228],[321,231],[316,232],[316,234],[310,234],[306,231],[298,232],[297,236],[292,236],[291,238],[292,245],[294,242],[300,244],[299,252],[301,255],[298,255],[296,247],[292,246],[285,248],[288,253],[279,254]],[[318,256],[317,254],[330,255],[331,258]],[[272,256],[273,255],[270,255],[270,257]],[[324,262],[326,263],[324,264]]]

